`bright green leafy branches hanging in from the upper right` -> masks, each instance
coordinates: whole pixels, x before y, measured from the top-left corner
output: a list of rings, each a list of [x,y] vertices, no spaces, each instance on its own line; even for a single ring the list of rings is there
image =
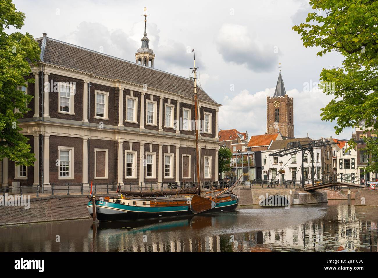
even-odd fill
[[[378,1],[311,0],[314,12],[293,26],[305,47],[319,47],[318,56],[336,51],[342,67],[321,71],[320,81],[334,84],[332,101],[322,108],[322,120],[335,121],[335,133],[346,127],[377,130],[378,122]]]

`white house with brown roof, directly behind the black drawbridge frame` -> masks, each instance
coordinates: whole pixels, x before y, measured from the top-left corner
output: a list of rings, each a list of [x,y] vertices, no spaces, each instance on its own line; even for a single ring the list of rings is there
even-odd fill
[[[301,180],[302,172],[302,158],[301,151],[297,154],[284,155],[282,157],[270,156],[270,154],[277,152],[283,148],[290,147],[290,144],[300,142],[302,145],[314,143],[311,138],[294,138],[287,140],[272,141],[268,150],[261,152],[261,163],[264,180],[296,180],[298,183]],[[321,178],[322,173],[322,147],[314,147],[314,171],[315,179]],[[304,178],[306,183],[311,182],[311,155],[307,151],[303,158]],[[279,174],[279,170],[283,169],[284,174]]]

